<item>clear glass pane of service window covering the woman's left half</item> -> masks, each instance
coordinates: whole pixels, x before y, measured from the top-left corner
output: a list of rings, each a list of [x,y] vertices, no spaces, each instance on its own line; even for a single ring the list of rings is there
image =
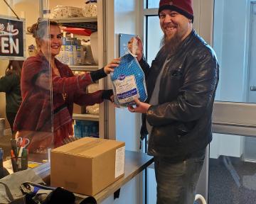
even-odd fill
[[[49,160],[48,149],[53,147],[52,73],[46,60],[50,59],[48,22],[41,24],[44,25],[42,29],[34,26],[33,32],[27,30],[43,21],[38,20],[42,16],[42,3],[31,0],[0,2],[0,33],[3,31],[0,36],[0,75],[3,76],[0,87],[6,86],[1,89],[0,97],[0,118],[6,122],[1,127],[0,147],[4,150],[4,167],[9,173],[43,164]],[[45,42],[40,45],[47,47],[45,55],[40,54],[34,38],[39,33]],[[21,50],[22,57],[13,55]],[[4,53],[9,55],[3,57]],[[20,139],[15,140],[16,137]]]

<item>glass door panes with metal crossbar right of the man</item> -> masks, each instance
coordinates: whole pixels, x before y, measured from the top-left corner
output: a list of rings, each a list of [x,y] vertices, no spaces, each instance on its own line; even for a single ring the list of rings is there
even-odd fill
[[[233,5],[232,12],[228,9],[230,4]],[[233,12],[240,13],[239,17]],[[253,110],[247,113],[247,108],[253,106],[248,102],[256,102],[249,100],[255,94],[250,91],[250,86],[253,86],[250,81],[255,81],[252,74],[255,70],[250,69],[250,64],[255,63],[255,57],[252,57],[255,55],[253,45],[256,39],[254,22],[255,2],[215,0],[213,48],[220,62],[220,81],[215,100],[235,103],[215,103],[217,114],[213,121],[215,125],[223,125],[218,132],[230,132],[230,135],[214,134],[210,142],[210,204],[255,203],[256,140],[255,137],[242,136],[250,131],[254,136],[255,132],[255,122],[251,120],[255,113]],[[223,111],[221,106],[225,106]],[[235,109],[232,111],[232,108]]]

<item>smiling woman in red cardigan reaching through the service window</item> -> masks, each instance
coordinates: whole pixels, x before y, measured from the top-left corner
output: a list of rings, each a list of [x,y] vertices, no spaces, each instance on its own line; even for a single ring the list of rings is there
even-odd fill
[[[63,140],[73,135],[73,103],[91,106],[102,103],[104,99],[112,100],[112,90],[86,94],[85,88],[107,77],[118,66],[118,60],[113,60],[95,72],[74,76],[68,65],[55,59],[62,45],[58,23],[41,21],[28,28],[28,32],[36,38],[39,51],[36,56],[28,57],[23,65],[22,103],[14,130],[18,130],[16,137],[32,140],[28,147],[34,151],[51,147],[52,143],[54,147],[63,145]],[[54,135],[53,141],[51,132]]]

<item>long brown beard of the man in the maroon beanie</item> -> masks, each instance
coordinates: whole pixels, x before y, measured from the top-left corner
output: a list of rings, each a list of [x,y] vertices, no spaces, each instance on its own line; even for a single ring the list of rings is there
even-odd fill
[[[163,47],[164,52],[167,52],[169,55],[174,55],[177,51],[178,46],[181,44],[182,36],[175,33],[174,36],[170,39],[166,35],[161,39],[161,47]]]

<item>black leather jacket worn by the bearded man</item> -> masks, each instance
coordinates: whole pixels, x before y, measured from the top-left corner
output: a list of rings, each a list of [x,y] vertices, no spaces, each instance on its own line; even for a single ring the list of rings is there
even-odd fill
[[[161,49],[150,68],[146,61],[139,62],[146,76],[147,102],[166,56]],[[182,161],[208,145],[218,68],[213,49],[192,30],[164,68],[159,105],[142,115],[142,138],[148,133],[146,120],[153,126],[148,154]]]

